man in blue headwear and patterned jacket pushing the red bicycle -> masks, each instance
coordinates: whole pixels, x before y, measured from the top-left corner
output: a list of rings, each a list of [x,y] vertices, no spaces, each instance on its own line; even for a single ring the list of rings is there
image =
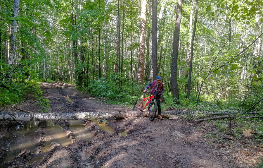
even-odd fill
[[[161,96],[163,96],[164,87],[163,87],[163,83],[161,82],[161,77],[156,76],[156,80],[149,83],[144,88],[144,92],[147,92],[148,88],[150,88],[150,94],[155,95],[155,99],[158,107],[158,119],[162,120],[163,118],[161,116]]]

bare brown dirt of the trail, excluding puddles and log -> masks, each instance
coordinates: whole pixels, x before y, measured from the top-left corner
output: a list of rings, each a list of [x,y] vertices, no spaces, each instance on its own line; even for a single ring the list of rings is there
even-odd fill
[[[108,105],[83,94],[66,83],[42,83],[44,96],[51,101],[49,112],[93,112],[131,111],[131,109]],[[69,98],[69,99],[68,99]],[[67,99],[67,100],[66,100]],[[72,100],[72,101],[71,101]],[[27,110],[37,109],[32,103],[19,105]],[[36,112],[36,111],[34,111]],[[51,140],[50,151],[43,152],[46,135],[46,121],[40,122],[36,131],[37,152],[23,150],[9,163],[10,167],[29,168],[240,168],[255,164],[244,164],[238,156],[238,148],[262,153],[262,147],[251,145],[250,141],[236,142],[207,137],[209,123],[179,120],[149,121],[146,117],[130,117],[111,120],[109,126],[114,133],[108,133],[93,121],[83,120],[91,140],[76,138],[68,121],[56,121],[72,141],[62,146]],[[0,124],[1,125],[1,124]],[[1,129],[1,128],[0,128]],[[2,128],[6,131],[6,128]],[[121,136],[123,131],[127,136]],[[0,133],[1,130],[0,130]],[[0,155],[3,149],[0,148]],[[2,154],[3,155],[3,154]],[[251,157],[241,151],[243,158]],[[40,160],[30,159],[41,156]],[[35,157],[37,158],[37,157]],[[31,161],[30,161],[31,160]]]

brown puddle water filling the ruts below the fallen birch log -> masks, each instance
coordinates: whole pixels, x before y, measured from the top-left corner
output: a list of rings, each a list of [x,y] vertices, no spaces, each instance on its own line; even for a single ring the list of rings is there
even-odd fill
[[[82,121],[70,120],[69,124],[69,128],[74,133],[76,140],[91,140],[94,137],[89,131],[85,130],[85,125]],[[8,163],[15,159],[15,155],[23,148],[30,150],[31,153],[36,152],[39,138],[37,135],[38,125],[39,121],[28,121],[22,126],[17,126],[15,130],[11,131],[0,140],[0,145],[4,146],[6,149],[6,155],[0,160],[1,168],[8,167],[9,165],[3,163]],[[51,140],[64,147],[73,143],[73,141],[68,138],[65,130],[61,126],[54,124],[54,121],[47,121],[45,132],[46,143],[43,147],[43,153],[51,150],[49,145]],[[36,155],[30,160],[30,163],[40,161],[42,157],[43,156]]]

